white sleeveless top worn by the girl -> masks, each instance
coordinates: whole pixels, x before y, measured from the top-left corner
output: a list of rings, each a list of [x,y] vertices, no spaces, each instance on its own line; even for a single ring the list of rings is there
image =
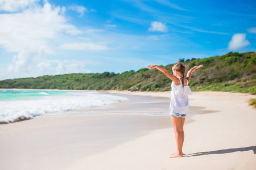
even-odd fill
[[[192,92],[190,87],[188,86],[188,80],[187,80],[187,86],[184,86],[184,89],[183,89],[181,80],[180,80],[180,84],[177,86],[174,84],[174,82],[172,82],[171,87],[172,87],[172,91],[171,91],[170,110],[179,114],[189,113],[188,95],[192,95]]]

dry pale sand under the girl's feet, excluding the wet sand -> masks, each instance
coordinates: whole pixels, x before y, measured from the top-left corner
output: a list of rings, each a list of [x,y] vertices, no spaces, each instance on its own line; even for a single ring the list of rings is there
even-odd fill
[[[169,97],[170,92],[135,95]],[[67,169],[255,169],[256,110],[248,106],[250,98],[255,96],[193,92],[191,106],[216,112],[196,114],[192,117],[195,122],[184,125],[183,158],[168,157],[176,150],[170,127],[81,158]]]

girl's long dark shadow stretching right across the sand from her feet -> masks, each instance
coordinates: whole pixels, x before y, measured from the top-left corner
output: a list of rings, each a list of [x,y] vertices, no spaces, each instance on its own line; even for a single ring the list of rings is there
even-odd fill
[[[252,150],[254,154],[256,154],[256,146],[249,146],[249,147],[238,147],[238,148],[229,148],[225,150],[216,150],[216,151],[205,151],[205,152],[197,152],[193,154],[184,154],[183,157],[191,157],[191,156],[202,156],[202,155],[213,155],[213,154],[228,154],[232,152],[243,152],[243,151],[250,151]]]

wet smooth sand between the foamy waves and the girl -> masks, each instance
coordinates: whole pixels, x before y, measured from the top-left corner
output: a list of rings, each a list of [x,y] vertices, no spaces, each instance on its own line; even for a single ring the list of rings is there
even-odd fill
[[[171,126],[168,98],[115,95],[129,100],[0,125],[0,169],[64,169],[80,158]]]

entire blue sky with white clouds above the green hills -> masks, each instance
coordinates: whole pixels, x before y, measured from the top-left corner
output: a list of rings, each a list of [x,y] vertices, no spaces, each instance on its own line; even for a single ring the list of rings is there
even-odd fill
[[[0,1],[0,79],[256,51],[254,1]]]

